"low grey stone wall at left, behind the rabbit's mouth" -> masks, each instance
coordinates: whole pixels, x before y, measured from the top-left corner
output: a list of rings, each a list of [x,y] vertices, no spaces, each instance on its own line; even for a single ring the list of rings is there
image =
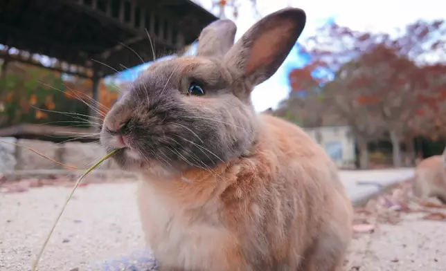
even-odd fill
[[[15,138],[0,138],[6,142],[14,142],[24,147],[29,147],[42,155],[57,162],[74,167],[89,167],[105,156],[105,151],[98,143],[66,142],[56,144],[41,140],[17,140]],[[5,142],[0,142],[0,172],[14,170],[33,169],[64,169],[30,149],[15,147]],[[101,169],[117,169],[112,160],[106,160],[100,165]]]

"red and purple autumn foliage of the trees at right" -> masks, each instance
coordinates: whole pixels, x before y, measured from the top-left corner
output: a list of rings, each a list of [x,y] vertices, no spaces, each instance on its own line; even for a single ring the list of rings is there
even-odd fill
[[[412,133],[407,129],[429,133],[434,123],[446,124],[446,65],[427,62],[432,55],[446,57],[445,36],[444,21],[416,21],[396,38],[324,26],[308,41],[313,62],[289,73],[289,84],[292,92],[320,89],[330,106],[344,104],[337,113],[347,118],[351,112],[348,122],[357,122],[357,131],[364,113],[367,121],[372,114],[381,118],[386,129],[398,124],[401,135]],[[333,71],[334,80],[325,84],[312,76],[319,68]]]

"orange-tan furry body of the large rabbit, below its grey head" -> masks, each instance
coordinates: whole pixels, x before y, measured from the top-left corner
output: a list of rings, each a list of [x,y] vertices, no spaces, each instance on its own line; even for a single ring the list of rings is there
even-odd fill
[[[161,266],[341,270],[352,210],[336,166],[295,125],[269,115],[262,124],[252,153],[216,174],[184,172],[190,183],[142,176],[143,229]]]

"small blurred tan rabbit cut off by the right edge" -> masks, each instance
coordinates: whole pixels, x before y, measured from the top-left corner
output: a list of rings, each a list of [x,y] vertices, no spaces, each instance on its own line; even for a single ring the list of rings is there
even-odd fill
[[[413,194],[422,200],[436,197],[446,205],[446,149],[422,160],[415,169]]]

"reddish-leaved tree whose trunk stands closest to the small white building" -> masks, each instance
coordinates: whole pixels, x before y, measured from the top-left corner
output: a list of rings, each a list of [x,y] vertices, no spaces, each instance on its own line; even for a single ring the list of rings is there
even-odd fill
[[[333,120],[348,124],[352,129],[353,137],[359,149],[359,167],[368,167],[368,142],[382,136],[382,122],[377,118],[371,107],[367,106],[375,102],[373,97],[368,97],[362,88],[355,86],[357,81],[357,69],[360,62],[348,62],[342,65],[330,82],[318,80],[311,76],[314,67],[321,64],[310,64],[300,70],[290,73],[290,82],[293,92],[304,92],[302,104],[307,111],[319,115],[319,121],[324,115],[329,115]],[[309,91],[300,91],[301,89]],[[321,122],[319,122],[321,124]]]

